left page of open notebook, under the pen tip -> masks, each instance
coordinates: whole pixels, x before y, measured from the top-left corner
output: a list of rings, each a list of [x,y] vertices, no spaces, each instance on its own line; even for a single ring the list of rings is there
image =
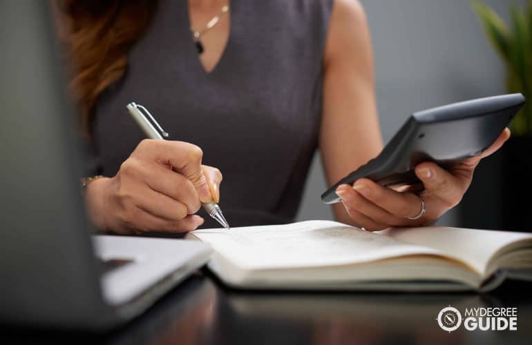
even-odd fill
[[[244,228],[200,229],[191,234],[243,268],[354,264],[402,255],[437,254],[334,221]]]

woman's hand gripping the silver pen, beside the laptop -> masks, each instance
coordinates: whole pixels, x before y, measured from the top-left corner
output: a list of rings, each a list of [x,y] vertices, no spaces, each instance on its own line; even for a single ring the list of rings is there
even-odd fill
[[[102,230],[121,234],[191,231],[204,219],[201,202],[218,202],[220,170],[202,166],[202,150],[182,141],[145,139],[115,177],[86,189],[88,215]]]

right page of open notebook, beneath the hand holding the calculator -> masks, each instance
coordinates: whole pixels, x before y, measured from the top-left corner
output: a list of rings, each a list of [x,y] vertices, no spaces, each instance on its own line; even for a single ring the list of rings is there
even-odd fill
[[[532,239],[532,234],[528,233],[444,226],[391,228],[378,233],[404,243],[441,250],[483,274],[486,273],[486,264],[497,250],[522,239]]]

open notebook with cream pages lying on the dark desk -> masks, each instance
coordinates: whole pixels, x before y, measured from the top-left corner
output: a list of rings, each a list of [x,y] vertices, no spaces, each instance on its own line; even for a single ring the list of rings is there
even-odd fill
[[[335,221],[201,229],[209,268],[237,288],[492,290],[532,280],[532,234],[428,226],[369,233]]]

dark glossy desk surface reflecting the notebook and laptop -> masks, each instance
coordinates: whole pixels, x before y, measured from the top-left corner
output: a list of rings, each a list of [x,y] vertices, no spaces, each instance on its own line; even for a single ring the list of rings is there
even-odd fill
[[[198,273],[104,335],[4,329],[17,344],[532,344],[532,284],[475,293],[243,292]],[[444,306],[517,307],[517,331],[442,331]]]

